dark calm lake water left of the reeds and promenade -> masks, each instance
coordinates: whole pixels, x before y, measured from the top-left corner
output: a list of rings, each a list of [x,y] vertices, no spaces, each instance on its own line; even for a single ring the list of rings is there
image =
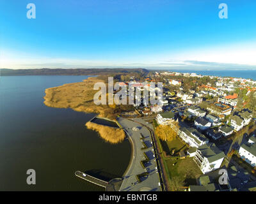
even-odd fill
[[[45,89],[86,76],[0,78],[0,190],[102,191],[75,177],[76,170],[102,179],[121,177],[131,156],[128,140],[112,145],[84,124],[94,113],[44,105]],[[36,185],[28,185],[28,169]]]

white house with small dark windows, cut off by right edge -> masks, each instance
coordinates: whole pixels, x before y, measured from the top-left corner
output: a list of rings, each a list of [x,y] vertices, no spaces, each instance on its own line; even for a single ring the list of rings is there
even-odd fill
[[[243,144],[239,149],[239,155],[244,161],[252,165],[256,166],[256,143],[252,144]]]

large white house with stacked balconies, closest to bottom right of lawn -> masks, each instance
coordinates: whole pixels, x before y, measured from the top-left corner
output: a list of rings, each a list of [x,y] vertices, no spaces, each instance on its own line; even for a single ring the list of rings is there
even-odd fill
[[[214,143],[205,143],[196,150],[194,161],[205,174],[220,168],[224,158],[225,154]]]

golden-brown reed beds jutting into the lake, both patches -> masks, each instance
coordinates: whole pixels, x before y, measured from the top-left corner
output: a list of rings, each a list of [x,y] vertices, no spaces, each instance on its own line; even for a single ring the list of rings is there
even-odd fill
[[[45,89],[44,104],[54,108],[72,108],[77,112],[99,113],[99,117],[115,120],[121,112],[122,106],[95,105],[93,96],[97,92],[93,90],[96,82],[105,82],[99,77],[90,77],[83,82],[64,84],[59,87]],[[87,122],[86,127],[99,133],[107,142],[118,143],[125,138],[124,130]]]

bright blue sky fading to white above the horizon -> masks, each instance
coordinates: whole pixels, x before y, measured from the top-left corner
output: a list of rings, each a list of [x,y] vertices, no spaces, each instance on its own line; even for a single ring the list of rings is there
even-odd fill
[[[0,31],[1,68],[256,69],[255,0],[1,0]]]

